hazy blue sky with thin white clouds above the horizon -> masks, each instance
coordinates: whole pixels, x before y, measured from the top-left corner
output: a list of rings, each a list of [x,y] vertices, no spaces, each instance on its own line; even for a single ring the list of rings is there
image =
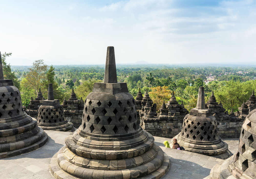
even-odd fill
[[[256,63],[256,1],[2,1],[11,65]]]

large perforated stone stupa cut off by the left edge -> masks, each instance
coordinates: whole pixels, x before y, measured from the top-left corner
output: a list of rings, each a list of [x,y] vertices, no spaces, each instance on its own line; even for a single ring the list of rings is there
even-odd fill
[[[47,140],[36,120],[24,112],[18,88],[4,80],[0,53],[0,158],[31,152]]]

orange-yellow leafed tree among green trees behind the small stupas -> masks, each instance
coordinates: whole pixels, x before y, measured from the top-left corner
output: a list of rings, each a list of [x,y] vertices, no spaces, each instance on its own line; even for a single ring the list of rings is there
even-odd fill
[[[160,108],[163,104],[163,101],[165,103],[170,99],[170,96],[172,95],[172,91],[168,89],[168,86],[157,86],[152,87],[151,92],[148,94],[150,95],[150,98],[154,103],[156,103],[156,111],[157,113],[160,112]]]

